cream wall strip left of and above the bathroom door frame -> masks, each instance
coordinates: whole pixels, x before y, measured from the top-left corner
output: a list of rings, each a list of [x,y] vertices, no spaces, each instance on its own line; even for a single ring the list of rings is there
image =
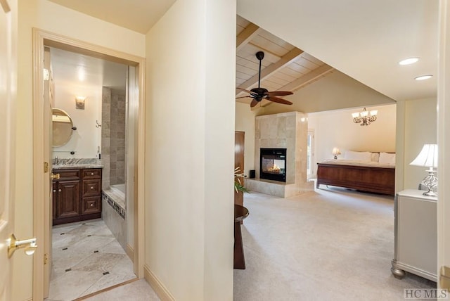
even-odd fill
[[[47,0],[18,1],[18,99],[16,126],[15,234],[33,236],[32,28],[63,34],[144,57],[145,35],[105,23]],[[68,21],[70,20],[70,22]],[[39,243],[39,242],[38,242]],[[17,300],[32,298],[32,257],[13,257],[13,292]]]

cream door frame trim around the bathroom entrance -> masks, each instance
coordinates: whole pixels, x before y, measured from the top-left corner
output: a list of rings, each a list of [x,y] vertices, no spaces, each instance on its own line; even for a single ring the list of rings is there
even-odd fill
[[[51,264],[51,223],[49,222],[49,179],[51,168],[44,169],[44,177],[42,174],[42,165],[51,167],[51,157],[49,152],[46,151],[49,148],[49,139],[42,139],[46,132],[44,124],[48,124],[46,108],[49,104],[45,102],[41,97],[43,93],[43,72],[37,70],[44,70],[44,46],[53,47],[56,49],[62,49],[65,51],[72,51],[73,53],[83,54],[85,56],[91,56],[94,58],[101,58],[103,60],[110,60],[124,65],[132,66],[131,70],[134,77],[130,91],[134,91],[133,98],[133,117],[131,122],[133,128],[136,131],[131,139],[132,148],[129,160],[129,165],[133,168],[132,177],[134,179],[131,183],[128,183],[129,194],[132,196],[130,203],[130,212],[132,217],[127,219],[127,229],[130,233],[129,245],[127,248],[127,254],[131,258],[134,264],[134,274],[141,278],[143,276],[143,233],[141,233],[141,224],[143,221],[143,214],[139,214],[139,208],[143,207],[143,186],[139,185],[143,182],[143,169],[139,167],[137,161],[143,157],[143,132],[139,129],[143,128],[143,81],[144,78],[145,60],[136,56],[130,56],[126,53],[120,53],[112,51],[110,49],[104,49],[101,46],[96,46],[82,41],[70,39],[68,37],[61,37],[57,34],[51,34],[49,32],[42,32],[40,30],[33,31],[33,53],[34,53],[34,129],[33,129],[33,146],[34,146],[34,231],[38,241],[42,242],[44,248],[40,248],[36,256],[41,256],[44,261],[34,260],[33,269],[33,296],[36,300],[42,300],[46,297],[49,287],[50,269]],[[136,92],[137,91],[137,92]],[[50,163],[50,164],[49,164]],[[129,172],[129,169],[127,169]],[[142,210],[141,210],[142,211]],[[140,243],[141,242],[141,243]]]

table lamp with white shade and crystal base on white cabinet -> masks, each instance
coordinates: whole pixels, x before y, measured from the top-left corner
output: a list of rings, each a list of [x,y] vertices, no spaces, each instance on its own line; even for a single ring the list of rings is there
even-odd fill
[[[409,165],[429,167],[427,170],[428,176],[420,182],[421,185],[428,189],[423,195],[437,196],[433,191],[433,189],[437,187],[437,177],[435,177],[436,170],[433,169],[433,167],[437,167],[437,144],[425,144],[417,158],[409,163]]]

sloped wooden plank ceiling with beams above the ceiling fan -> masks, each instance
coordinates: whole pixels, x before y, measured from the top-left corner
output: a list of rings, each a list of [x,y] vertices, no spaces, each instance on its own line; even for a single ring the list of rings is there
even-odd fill
[[[264,51],[261,87],[269,91],[295,91],[325,77],[333,68],[314,56],[266,32],[237,16],[236,25],[236,87],[250,90],[258,87],[259,60],[255,54]],[[236,89],[236,97],[247,93]],[[238,98],[249,103],[252,98]],[[263,100],[259,105],[272,103]],[[255,108],[259,107],[257,105]]]

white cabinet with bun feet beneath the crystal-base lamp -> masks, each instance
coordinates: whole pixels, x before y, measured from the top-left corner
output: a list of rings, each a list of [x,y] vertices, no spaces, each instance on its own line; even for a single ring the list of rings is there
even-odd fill
[[[424,192],[408,189],[395,196],[391,271],[396,278],[409,271],[437,281],[437,198]]]

